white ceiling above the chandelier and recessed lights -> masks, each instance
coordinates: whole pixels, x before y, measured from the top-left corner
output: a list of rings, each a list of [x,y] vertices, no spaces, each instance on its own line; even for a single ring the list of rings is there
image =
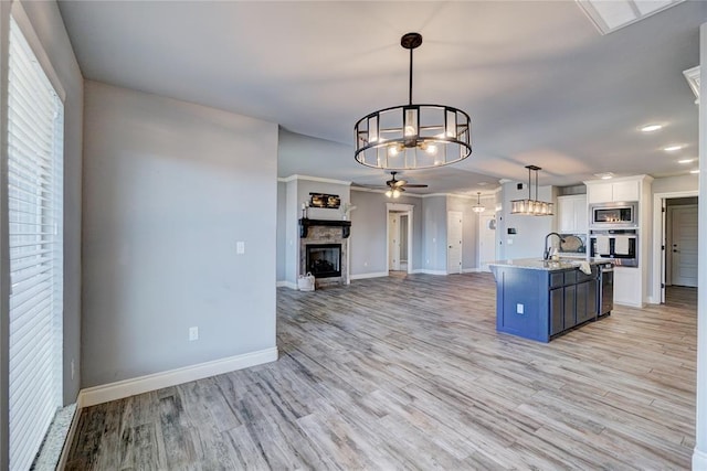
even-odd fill
[[[471,158],[404,172],[429,192],[487,191],[506,178],[569,185],[594,173],[687,173],[707,2],[686,1],[601,35],[573,1],[60,1],[84,76],[277,122],[349,146],[350,158],[279,162],[292,173],[382,184],[354,161],[354,124],[408,99],[472,117]],[[644,135],[641,125],[661,122]],[[663,147],[685,146],[667,153]],[[481,186],[479,182],[489,184]],[[411,191],[412,192],[412,191]]]

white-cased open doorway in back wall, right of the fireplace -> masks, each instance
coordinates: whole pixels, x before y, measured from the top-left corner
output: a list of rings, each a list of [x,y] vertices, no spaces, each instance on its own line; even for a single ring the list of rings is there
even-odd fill
[[[414,205],[387,203],[386,260],[389,275],[412,272],[412,213]]]

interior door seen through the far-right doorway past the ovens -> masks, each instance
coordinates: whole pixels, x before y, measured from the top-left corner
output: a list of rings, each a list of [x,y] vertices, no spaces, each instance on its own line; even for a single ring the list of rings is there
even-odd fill
[[[697,205],[671,207],[671,283],[697,286]]]

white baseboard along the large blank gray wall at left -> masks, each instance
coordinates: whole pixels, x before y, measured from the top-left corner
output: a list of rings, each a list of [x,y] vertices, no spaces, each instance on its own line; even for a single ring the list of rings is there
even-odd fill
[[[176,386],[190,381],[202,379],[204,377],[215,376],[235,370],[243,370],[250,366],[274,362],[276,360],[277,347],[274,346],[272,349],[214,360],[212,362],[200,363],[198,365],[184,366],[182,368],[88,387],[86,389],[81,389],[78,393],[76,408],[81,409],[82,407],[95,406],[96,404],[103,404],[109,400],[123,399],[136,394]]]

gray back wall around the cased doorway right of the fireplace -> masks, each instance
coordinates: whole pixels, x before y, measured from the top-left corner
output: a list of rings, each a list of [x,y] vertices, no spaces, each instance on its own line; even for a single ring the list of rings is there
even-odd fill
[[[349,260],[351,276],[388,272],[386,259],[388,235],[388,203],[412,204],[412,260],[410,267],[421,268],[422,254],[422,199],[400,196],[394,201],[383,193],[351,191],[351,237]]]

